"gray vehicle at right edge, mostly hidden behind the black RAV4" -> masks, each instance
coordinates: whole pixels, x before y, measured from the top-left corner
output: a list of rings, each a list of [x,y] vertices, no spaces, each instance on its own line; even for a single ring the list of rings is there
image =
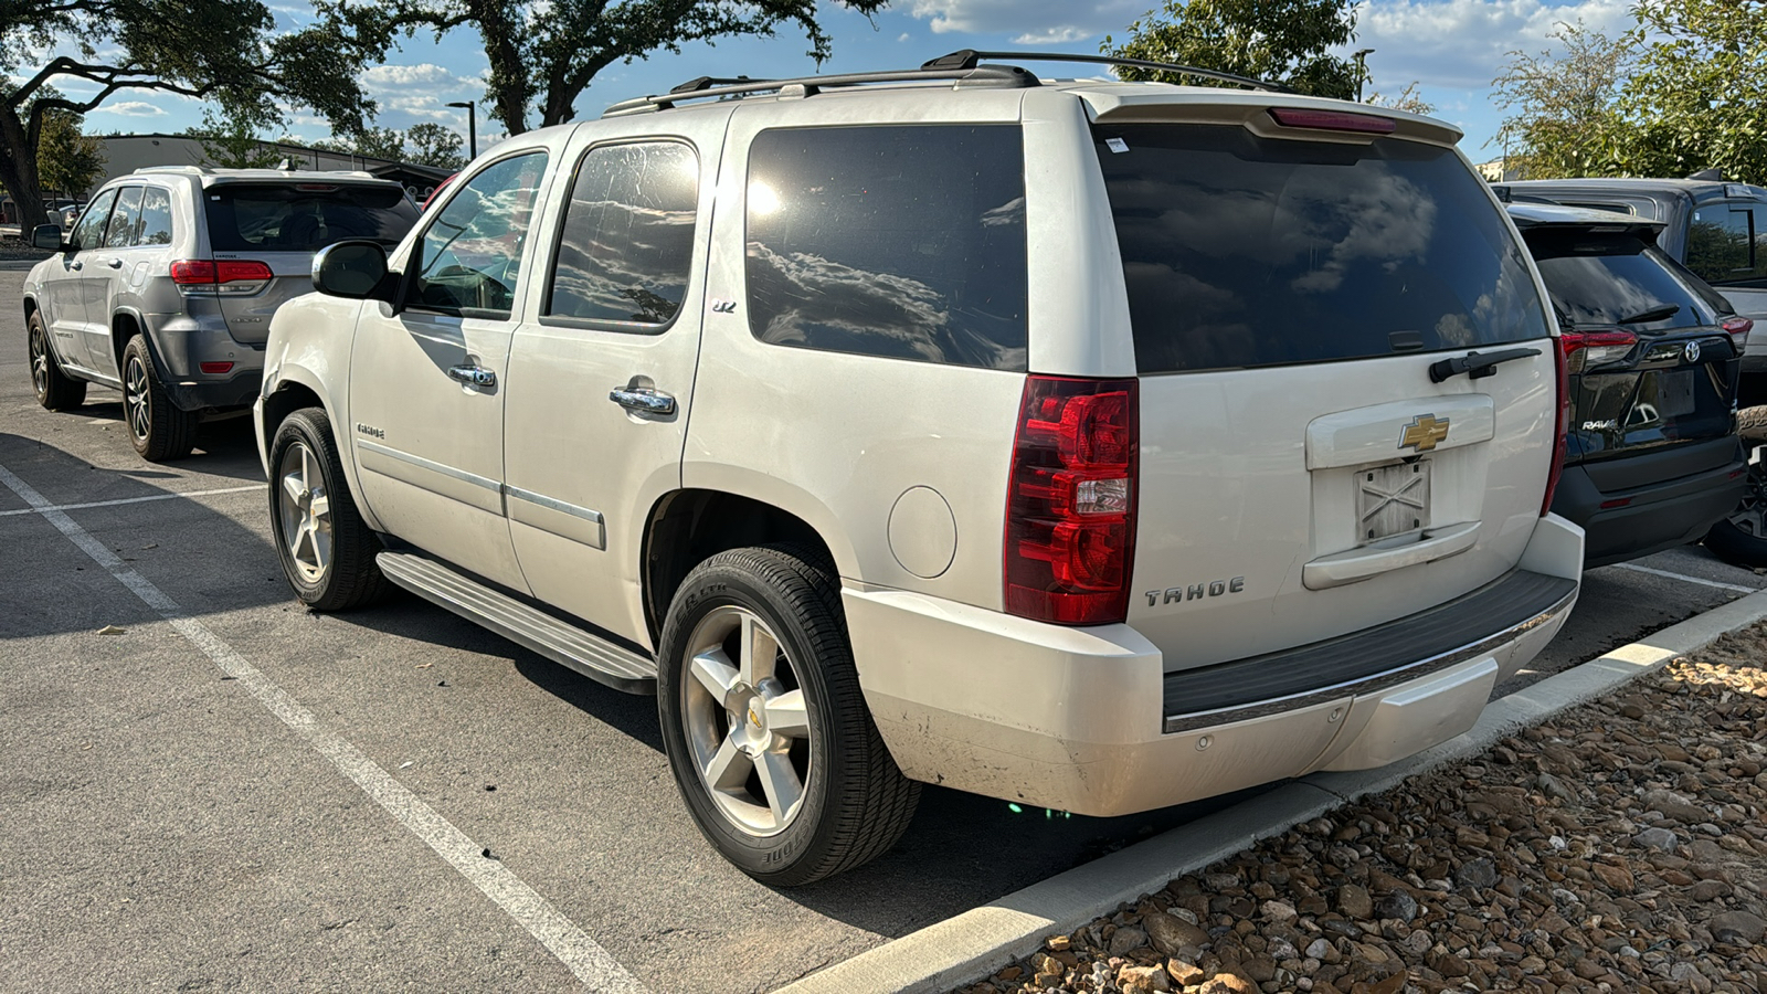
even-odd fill
[[[1617,210],[1663,223],[1657,246],[1712,285],[1739,317],[1767,322],[1767,189],[1719,179],[1562,179],[1511,182],[1504,196]],[[1767,566],[1767,333],[1749,336],[1737,387],[1737,424],[1749,476],[1707,548],[1730,562]]]

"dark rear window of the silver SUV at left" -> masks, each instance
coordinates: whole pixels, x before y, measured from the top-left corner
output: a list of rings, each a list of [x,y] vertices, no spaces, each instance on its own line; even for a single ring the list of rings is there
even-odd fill
[[[302,189],[306,187],[306,189]],[[224,182],[203,191],[214,251],[318,251],[345,239],[394,246],[417,223],[398,186]]]

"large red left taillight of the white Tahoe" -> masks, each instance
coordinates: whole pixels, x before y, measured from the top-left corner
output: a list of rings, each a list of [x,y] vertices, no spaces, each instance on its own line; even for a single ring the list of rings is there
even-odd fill
[[[1055,624],[1129,614],[1138,380],[1027,377],[1005,502],[1005,610]]]

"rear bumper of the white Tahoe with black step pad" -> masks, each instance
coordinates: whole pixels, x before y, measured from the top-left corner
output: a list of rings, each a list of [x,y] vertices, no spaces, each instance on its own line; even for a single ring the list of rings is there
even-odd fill
[[[1521,568],[1343,638],[1194,670],[1126,624],[1058,628],[846,587],[866,702],[914,780],[1085,815],[1385,766],[1477,722],[1576,603],[1581,531],[1539,522]],[[1189,704],[1187,704],[1189,702]]]

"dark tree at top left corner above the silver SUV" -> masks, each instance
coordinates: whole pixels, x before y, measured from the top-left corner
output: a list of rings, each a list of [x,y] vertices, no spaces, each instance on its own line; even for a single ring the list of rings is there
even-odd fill
[[[262,0],[0,0],[0,184],[37,202],[49,115],[120,92],[201,97],[260,124],[302,104],[359,127],[371,104],[343,41],[323,25],[277,32]],[[92,92],[44,97],[55,81]]]

